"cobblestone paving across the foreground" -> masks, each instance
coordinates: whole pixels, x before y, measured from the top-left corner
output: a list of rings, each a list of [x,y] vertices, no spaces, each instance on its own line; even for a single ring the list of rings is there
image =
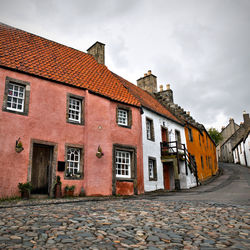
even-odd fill
[[[249,206],[150,199],[0,209],[0,249],[250,249]]]

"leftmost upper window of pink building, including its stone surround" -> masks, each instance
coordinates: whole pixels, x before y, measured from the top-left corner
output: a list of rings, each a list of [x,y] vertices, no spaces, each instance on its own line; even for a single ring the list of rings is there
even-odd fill
[[[30,84],[6,77],[3,111],[28,115]]]

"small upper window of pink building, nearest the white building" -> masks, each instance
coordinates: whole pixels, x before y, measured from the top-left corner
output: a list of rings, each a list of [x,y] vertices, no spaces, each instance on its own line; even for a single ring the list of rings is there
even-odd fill
[[[132,126],[132,111],[130,108],[119,105],[116,108],[116,123],[125,128]]]

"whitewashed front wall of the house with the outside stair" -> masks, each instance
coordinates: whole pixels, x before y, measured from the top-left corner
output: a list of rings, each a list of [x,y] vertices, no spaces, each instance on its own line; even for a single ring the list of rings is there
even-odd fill
[[[146,118],[150,118],[151,120],[153,120],[154,136],[155,136],[154,141],[147,139]],[[154,191],[157,189],[164,189],[163,164],[161,162],[161,148],[160,148],[160,143],[162,142],[161,126],[164,126],[168,129],[169,141],[176,140],[175,130],[179,130],[181,134],[181,142],[186,145],[185,131],[183,126],[143,108],[143,115],[142,115],[143,169],[144,169],[144,189],[146,192]],[[149,181],[149,173],[148,173],[149,157],[156,158],[157,181]],[[196,185],[194,176],[192,176],[191,174],[186,176],[184,162],[180,162],[180,181],[182,189],[190,188]],[[172,185],[173,182],[171,186]]]

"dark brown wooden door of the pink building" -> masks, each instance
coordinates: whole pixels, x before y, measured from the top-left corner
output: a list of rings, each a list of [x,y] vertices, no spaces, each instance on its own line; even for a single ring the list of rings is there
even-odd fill
[[[51,176],[52,147],[40,144],[33,146],[31,171],[32,193],[48,194]]]

